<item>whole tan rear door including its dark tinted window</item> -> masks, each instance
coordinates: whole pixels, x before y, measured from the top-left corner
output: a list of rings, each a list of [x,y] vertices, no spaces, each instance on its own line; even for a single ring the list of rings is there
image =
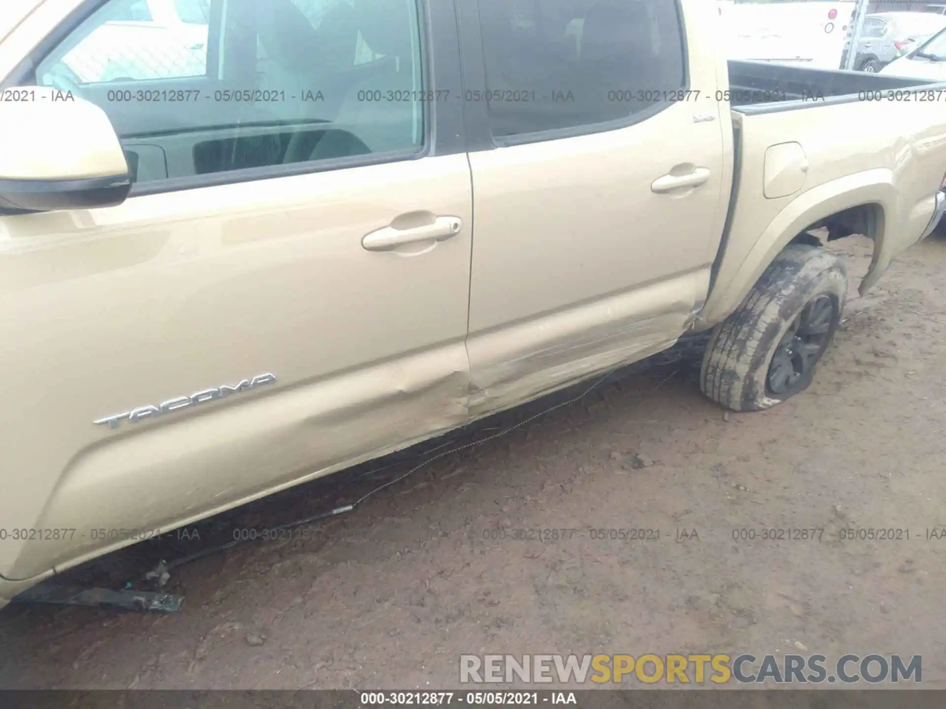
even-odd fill
[[[476,204],[467,347],[482,415],[679,337],[722,233],[731,132],[709,3],[477,9],[462,26]]]

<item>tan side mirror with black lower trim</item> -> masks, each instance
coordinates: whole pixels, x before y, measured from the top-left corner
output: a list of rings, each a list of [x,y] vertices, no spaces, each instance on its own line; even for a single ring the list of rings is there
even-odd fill
[[[131,190],[125,151],[95,104],[40,86],[0,102],[0,214],[121,204]]]

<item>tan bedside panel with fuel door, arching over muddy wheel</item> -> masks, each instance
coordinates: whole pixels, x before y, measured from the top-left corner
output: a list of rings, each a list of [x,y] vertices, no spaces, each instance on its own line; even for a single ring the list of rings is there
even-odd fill
[[[798,72],[794,67],[771,67],[770,71]],[[735,77],[740,78],[738,73]],[[740,133],[736,175],[740,187],[734,195],[725,248],[717,258],[717,278],[696,329],[724,320],[799,234],[827,226],[832,238],[862,233],[873,239],[870,269],[860,285],[862,295],[899,253],[928,234],[926,227],[936,212],[946,170],[946,121],[941,101],[920,97],[924,91],[941,95],[946,86],[923,87],[913,94],[896,91],[891,96],[904,100],[865,101],[855,94],[841,101],[831,96],[797,100],[791,106],[796,110],[785,110],[788,104],[733,110]],[[916,96],[913,102],[905,100],[910,95]],[[832,130],[832,125],[838,129]],[[804,180],[790,193],[769,199],[763,194],[766,154],[771,147],[784,145],[786,137],[804,155]]]

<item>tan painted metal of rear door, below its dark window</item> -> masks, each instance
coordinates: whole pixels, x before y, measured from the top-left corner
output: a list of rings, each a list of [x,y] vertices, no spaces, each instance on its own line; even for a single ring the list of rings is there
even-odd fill
[[[712,22],[686,7],[694,24]],[[687,43],[690,85],[714,94],[726,60],[712,33],[688,31]],[[669,347],[705,300],[732,181],[729,112],[702,99],[657,108],[470,153],[473,412]]]

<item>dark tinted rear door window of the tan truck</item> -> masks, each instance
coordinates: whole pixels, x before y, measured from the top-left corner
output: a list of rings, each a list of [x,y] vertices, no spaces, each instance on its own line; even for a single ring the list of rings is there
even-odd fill
[[[626,119],[685,86],[674,0],[480,0],[494,136]]]

